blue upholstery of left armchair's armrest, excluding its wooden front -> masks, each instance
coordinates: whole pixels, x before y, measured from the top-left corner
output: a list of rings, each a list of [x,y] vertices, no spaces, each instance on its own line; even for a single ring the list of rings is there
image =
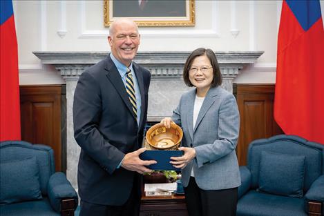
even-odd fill
[[[75,199],[75,208],[77,208],[77,193],[71,186],[64,173],[54,173],[48,181],[48,198],[50,205],[59,213],[61,212],[61,199]]]

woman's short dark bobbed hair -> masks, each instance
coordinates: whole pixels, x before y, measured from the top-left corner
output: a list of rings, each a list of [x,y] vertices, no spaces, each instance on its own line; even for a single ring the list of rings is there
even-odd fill
[[[213,67],[213,81],[211,81],[211,88],[220,86],[222,84],[222,74],[220,73],[220,66],[218,65],[216,55],[213,50],[205,48],[198,48],[196,50],[193,50],[193,52],[191,52],[191,54],[187,58],[183,68],[184,83],[189,87],[193,86],[189,79],[189,69],[191,68],[193,60],[196,59],[196,57],[200,57],[202,55],[207,56],[209,61],[211,61],[211,66]]]

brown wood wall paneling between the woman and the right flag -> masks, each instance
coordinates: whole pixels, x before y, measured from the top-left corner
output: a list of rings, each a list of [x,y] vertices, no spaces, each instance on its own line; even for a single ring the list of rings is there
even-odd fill
[[[247,164],[247,148],[255,139],[282,134],[274,121],[274,84],[235,84],[234,95],[240,111],[238,163]]]

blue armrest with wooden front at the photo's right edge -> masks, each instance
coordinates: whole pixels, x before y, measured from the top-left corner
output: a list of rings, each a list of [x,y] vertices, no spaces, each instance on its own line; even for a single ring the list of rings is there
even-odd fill
[[[309,215],[324,213],[324,175],[318,177],[305,194]]]

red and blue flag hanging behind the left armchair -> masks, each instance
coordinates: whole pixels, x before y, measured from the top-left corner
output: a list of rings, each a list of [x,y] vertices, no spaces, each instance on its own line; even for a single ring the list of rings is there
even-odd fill
[[[0,141],[20,140],[18,52],[12,1],[1,3]]]

